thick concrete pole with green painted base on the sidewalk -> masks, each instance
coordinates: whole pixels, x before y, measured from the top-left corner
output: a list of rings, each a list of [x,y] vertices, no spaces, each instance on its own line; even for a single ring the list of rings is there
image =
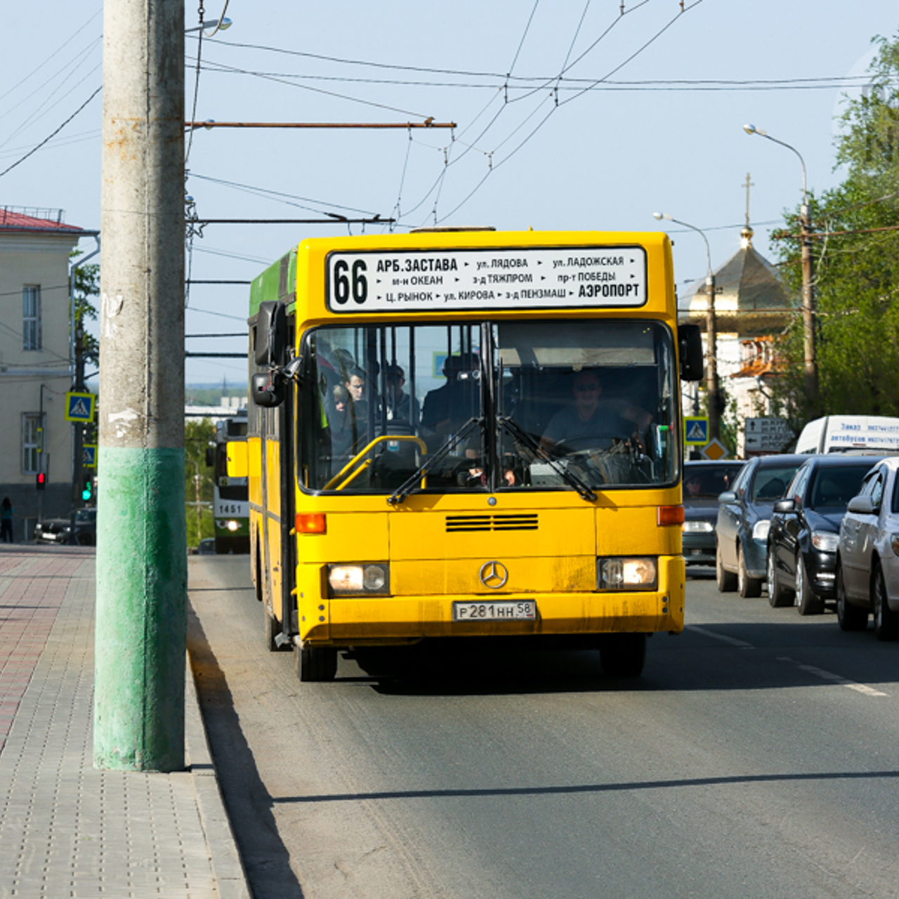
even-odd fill
[[[93,761],[184,767],[184,4],[103,4]]]

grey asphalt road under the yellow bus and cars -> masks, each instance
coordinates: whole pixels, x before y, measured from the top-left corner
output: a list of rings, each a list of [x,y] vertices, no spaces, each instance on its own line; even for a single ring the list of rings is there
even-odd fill
[[[708,573],[710,574],[710,572]],[[247,556],[190,643],[255,899],[899,896],[899,644],[688,584],[642,678],[583,652],[263,650]]]

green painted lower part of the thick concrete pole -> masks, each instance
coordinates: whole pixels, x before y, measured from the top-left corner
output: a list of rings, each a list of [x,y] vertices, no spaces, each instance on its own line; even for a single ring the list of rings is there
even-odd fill
[[[93,763],[184,768],[183,449],[101,446]]]

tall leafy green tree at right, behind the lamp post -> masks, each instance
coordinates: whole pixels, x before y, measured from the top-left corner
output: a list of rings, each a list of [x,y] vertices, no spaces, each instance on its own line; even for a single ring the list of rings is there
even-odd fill
[[[816,232],[814,290],[823,414],[899,415],[899,35],[876,38],[870,83],[846,103],[836,138],[836,167],[845,178],[812,198]],[[796,213],[787,217],[799,233]],[[800,246],[786,242],[782,270],[801,293]],[[779,401],[801,422],[802,320],[779,342]]]

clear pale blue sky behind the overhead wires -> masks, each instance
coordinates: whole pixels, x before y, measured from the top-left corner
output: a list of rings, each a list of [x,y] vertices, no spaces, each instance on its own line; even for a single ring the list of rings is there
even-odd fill
[[[234,24],[202,43],[198,120],[405,122],[458,128],[202,130],[188,191],[203,218],[398,216],[398,228],[645,229],[654,211],[706,230],[712,263],[734,253],[746,211],[755,245],[833,171],[834,116],[859,93],[895,0],[230,0]],[[217,18],[225,0],[206,3]],[[198,22],[187,5],[187,27]],[[188,38],[187,107],[198,41]],[[255,74],[253,74],[255,73]],[[563,73],[559,79],[560,73]],[[4,10],[0,171],[47,138],[102,84],[102,4],[47,0]],[[557,104],[556,104],[557,102]],[[0,177],[0,205],[63,208],[99,228],[101,98]],[[449,163],[449,165],[448,165]],[[223,182],[230,182],[230,186]],[[705,274],[699,235],[670,223],[679,284]],[[249,280],[305,236],[346,226],[208,227],[195,279]],[[354,232],[360,230],[354,228]],[[85,249],[93,247],[84,242]],[[191,289],[188,334],[242,331],[246,289]],[[242,351],[240,339],[191,342]],[[191,360],[190,382],[245,379],[241,360]]]

